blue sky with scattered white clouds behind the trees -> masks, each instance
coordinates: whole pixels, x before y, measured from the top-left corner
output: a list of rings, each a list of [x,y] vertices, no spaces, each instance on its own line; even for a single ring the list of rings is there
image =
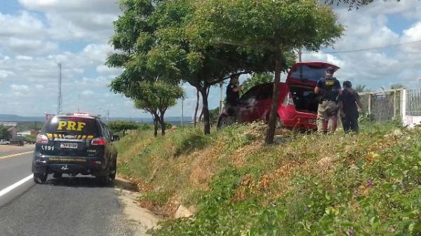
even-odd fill
[[[44,116],[56,113],[58,63],[62,64],[62,107],[112,117],[149,117],[130,99],[107,87],[121,69],[104,65],[112,47],[112,22],[121,14],[117,0],[1,0],[0,113]],[[336,64],[340,81],[371,90],[400,83],[421,87],[421,1],[375,1],[358,11],[335,7],[345,34],[333,48],[304,50],[303,62]],[[400,43],[403,46],[392,46]],[[385,48],[359,50],[365,48]],[[352,53],[344,51],[359,50]],[[342,52],[342,53],[341,53]],[[247,76],[242,76],[244,80]],[[285,79],[285,75],[283,75]],[[196,91],[184,84],[185,116],[192,116]],[[219,88],[210,91],[210,108],[219,104]],[[181,102],[167,111],[180,116]]]

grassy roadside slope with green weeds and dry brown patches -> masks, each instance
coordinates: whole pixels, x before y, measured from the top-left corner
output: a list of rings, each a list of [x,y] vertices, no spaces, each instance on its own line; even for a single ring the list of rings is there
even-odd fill
[[[121,140],[119,173],[138,180],[142,204],[171,216],[154,235],[420,235],[421,134],[392,123],[359,135],[283,134],[264,126],[206,137],[178,130]]]

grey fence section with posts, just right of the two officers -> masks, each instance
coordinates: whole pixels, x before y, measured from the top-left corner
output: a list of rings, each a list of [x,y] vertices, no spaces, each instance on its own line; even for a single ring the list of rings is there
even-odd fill
[[[363,108],[375,121],[401,117],[403,89],[360,92]]]

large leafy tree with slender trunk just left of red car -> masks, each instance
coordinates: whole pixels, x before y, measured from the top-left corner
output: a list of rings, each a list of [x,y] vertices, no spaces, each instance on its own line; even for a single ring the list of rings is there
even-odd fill
[[[209,134],[210,86],[230,74],[265,71],[274,57],[201,40],[202,32],[192,27],[196,7],[193,0],[121,1],[123,15],[114,22],[111,40],[119,52],[110,55],[107,64],[125,69],[112,88],[130,90],[138,81],[156,78],[194,86],[202,97],[204,131]]]

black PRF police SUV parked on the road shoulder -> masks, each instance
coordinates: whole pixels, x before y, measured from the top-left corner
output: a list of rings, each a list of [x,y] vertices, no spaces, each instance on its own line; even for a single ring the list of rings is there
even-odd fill
[[[44,183],[48,174],[95,176],[102,184],[116,177],[117,151],[112,136],[100,118],[72,113],[48,118],[36,137],[32,172],[35,183]]]

